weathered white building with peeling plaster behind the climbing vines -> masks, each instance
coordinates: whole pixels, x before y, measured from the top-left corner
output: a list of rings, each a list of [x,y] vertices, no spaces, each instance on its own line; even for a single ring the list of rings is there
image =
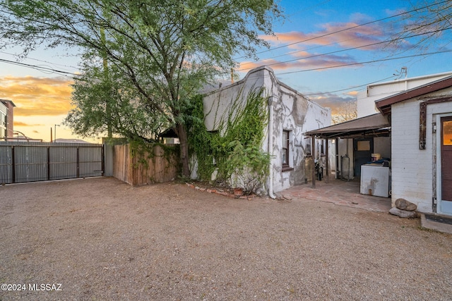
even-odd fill
[[[268,97],[268,128],[262,149],[273,155],[270,176],[266,183],[268,194],[279,192],[292,185],[304,183],[311,177],[307,161],[323,156],[321,144],[311,151],[311,140],[305,132],[331,124],[331,111],[275,78],[266,66],[249,71],[244,79],[232,85],[204,94],[205,124],[209,131],[218,130],[217,116],[234,114],[231,111],[234,99],[246,99],[251,90],[262,88]],[[321,143],[321,142],[319,142]]]

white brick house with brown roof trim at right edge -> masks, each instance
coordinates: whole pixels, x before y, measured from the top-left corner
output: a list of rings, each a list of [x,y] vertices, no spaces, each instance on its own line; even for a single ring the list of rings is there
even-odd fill
[[[392,201],[452,216],[452,76],[379,99],[391,119]]]

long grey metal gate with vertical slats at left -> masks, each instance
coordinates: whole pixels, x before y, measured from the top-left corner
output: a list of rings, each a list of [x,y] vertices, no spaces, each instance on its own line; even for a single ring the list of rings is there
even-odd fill
[[[0,142],[0,183],[104,176],[104,145]]]

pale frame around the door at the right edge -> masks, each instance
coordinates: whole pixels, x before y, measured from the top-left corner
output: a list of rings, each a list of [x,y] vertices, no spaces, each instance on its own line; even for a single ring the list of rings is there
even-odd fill
[[[447,205],[444,204],[442,199],[442,171],[441,171],[441,118],[444,117],[452,117],[452,113],[442,113],[442,114],[435,114],[436,118],[434,119],[434,123],[436,123],[436,151],[433,152],[433,155],[436,156],[436,161],[434,160],[434,163],[436,165],[436,174],[434,174],[435,178],[434,182],[436,182],[436,185],[434,185],[434,193],[436,192],[436,196],[434,195],[434,198],[436,199],[436,212],[439,214],[447,214],[452,215],[452,202],[450,201],[444,201],[448,202]],[[435,184],[435,183],[434,183]],[[435,211],[435,210],[434,210]]]

